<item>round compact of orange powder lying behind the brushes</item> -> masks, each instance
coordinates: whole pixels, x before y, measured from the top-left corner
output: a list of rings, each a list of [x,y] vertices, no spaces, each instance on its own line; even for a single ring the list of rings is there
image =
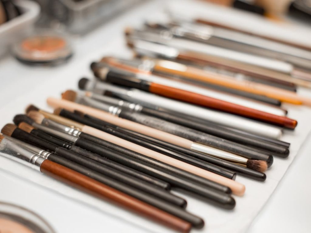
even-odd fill
[[[28,65],[58,65],[72,56],[68,40],[58,34],[35,34],[13,47],[17,60]]]

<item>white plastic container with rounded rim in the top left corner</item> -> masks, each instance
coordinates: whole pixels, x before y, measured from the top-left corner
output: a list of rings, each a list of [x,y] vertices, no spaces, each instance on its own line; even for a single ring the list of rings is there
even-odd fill
[[[0,58],[9,50],[12,43],[25,36],[39,16],[39,4],[29,0],[15,0],[22,14],[0,25]]]

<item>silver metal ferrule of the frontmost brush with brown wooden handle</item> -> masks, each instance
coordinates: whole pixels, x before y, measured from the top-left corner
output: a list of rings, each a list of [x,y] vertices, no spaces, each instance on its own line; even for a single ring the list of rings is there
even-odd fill
[[[0,154],[3,157],[12,159],[28,167],[32,167],[38,171],[40,171],[40,166],[45,160],[45,158],[37,153],[34,153],[7,138],[2,139],[0,143]]]

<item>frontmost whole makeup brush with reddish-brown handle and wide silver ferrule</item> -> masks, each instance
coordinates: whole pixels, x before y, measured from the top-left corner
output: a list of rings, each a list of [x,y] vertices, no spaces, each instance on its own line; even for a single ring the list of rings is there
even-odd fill
[[[91,179],[79,172],[49,161],[26,148],[21,148],[12,141],[4,138],[2,135],[0,135],[0,152],[1,155],[6,158],[21,162],[48,176],[52,176],[55,179],[73,185],[75,188],[81,189],[90,194],[95,194],[101,199],[112,201],[120,207],[126,208],[144,217],[148,217],[151,220],[159,222],[174,230],[180,232],[190,231],[190,223],[104,185],[103,183]]]

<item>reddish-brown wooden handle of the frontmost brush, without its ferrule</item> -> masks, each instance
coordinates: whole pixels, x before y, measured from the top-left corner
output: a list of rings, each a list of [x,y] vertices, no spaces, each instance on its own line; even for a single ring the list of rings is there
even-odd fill
[[[101,199],[106,199],[122,206],[132,212],[136,212],[153,221],[159,222],[169,228],[179,232],[189,232],[191,224],[174,215],[162,211],[154,206],[142,202],[132,196],[115,190],[103,183],[94,180],[88,176],[82,175],[77,171],[73,171],[58,163],[44,160],[40,166],[41,172],[47,174],[57,180],[72,185],[80,190],[91,193]]]

